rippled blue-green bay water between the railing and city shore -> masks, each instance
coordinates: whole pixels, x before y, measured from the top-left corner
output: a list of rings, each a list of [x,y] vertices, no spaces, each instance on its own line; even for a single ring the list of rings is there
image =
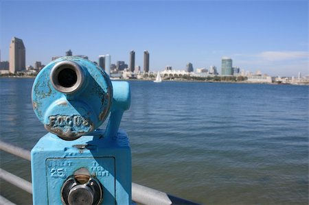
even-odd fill
[[[33,79],[0,78],[1,140],[31,149],[46,131]],[[308,204],[308,86],[131,81],[133,181],[203,204]],[[25,160],[1,168],[30,180]],[[30,204],[1,181],[1,195]],[[5,187],[5,188],[4,188]]]

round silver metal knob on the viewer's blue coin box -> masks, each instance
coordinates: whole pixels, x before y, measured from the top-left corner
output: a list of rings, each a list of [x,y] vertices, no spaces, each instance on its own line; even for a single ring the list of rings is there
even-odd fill
[[[100,182],[89,176],[71,176],[61,188],[61,200],[67,205],[100,204],[103,191]]]

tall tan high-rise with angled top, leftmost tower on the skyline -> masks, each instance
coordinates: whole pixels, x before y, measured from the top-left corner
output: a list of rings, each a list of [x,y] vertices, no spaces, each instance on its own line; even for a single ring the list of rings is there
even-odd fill
[[[25,45],[23,40],[13,37],[10,43],[10,73],[25,70]]]

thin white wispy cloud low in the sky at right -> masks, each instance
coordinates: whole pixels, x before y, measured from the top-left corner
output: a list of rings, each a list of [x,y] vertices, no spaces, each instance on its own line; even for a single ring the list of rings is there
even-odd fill
[[[309,54],[305,51],[264,51],[258,54],[258,57],[270,61],[297,60],[300,58],[308,58]]]

